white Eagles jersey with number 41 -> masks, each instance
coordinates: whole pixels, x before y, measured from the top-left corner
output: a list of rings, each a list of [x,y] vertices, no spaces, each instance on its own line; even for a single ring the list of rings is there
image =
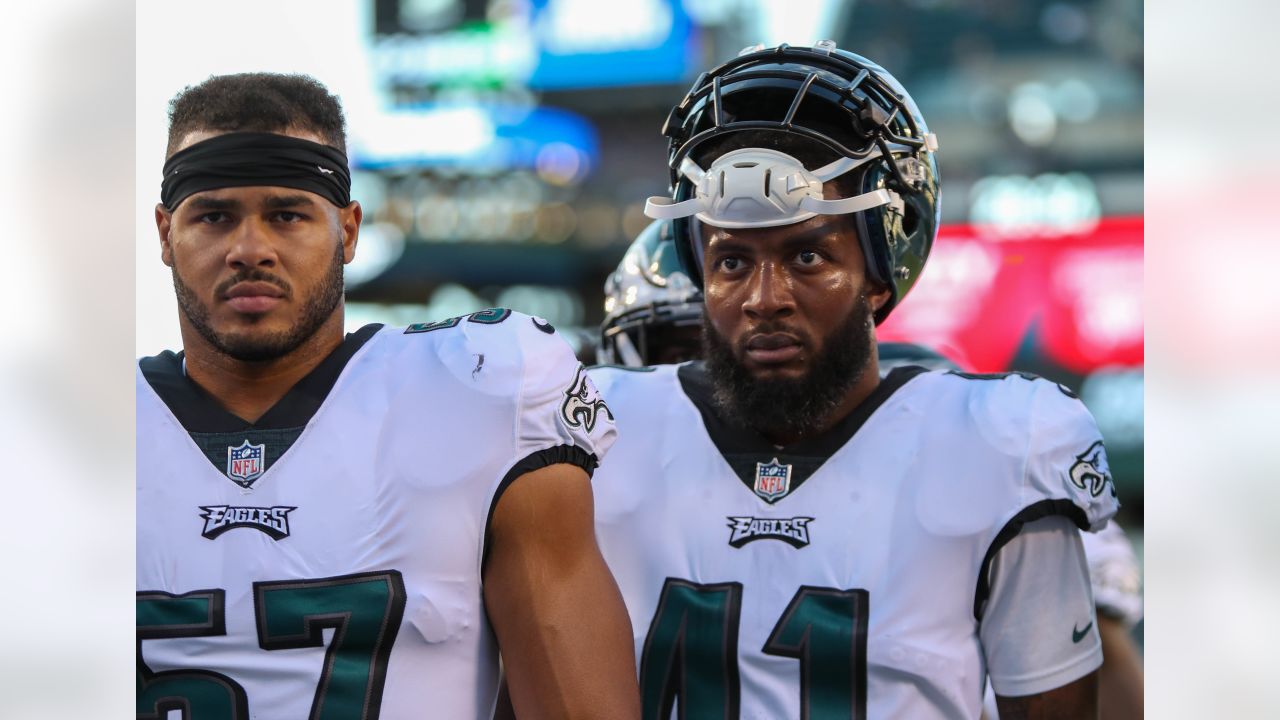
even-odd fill
[[[1093,419],[1046,380],[902,368],[778,448],[714,411],[699,363],[591,377],[621,433],[596,534],[646,720],[978,717],[997,550],[1036,519],[1098,529],[1116,510]],[[1080,600],[1041,652],[1078,675],[1101,661]]]

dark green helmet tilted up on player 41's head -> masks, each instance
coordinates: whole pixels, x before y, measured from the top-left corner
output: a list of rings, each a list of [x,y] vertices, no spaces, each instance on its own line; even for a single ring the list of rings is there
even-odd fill
[[[739,140],[764,135],[776,142],[716,152],[748,131],[759,135]],[[748,47],[694,82],[663,135],[671,197],[650,197],[645,214],[672,222],[695,287],[703,283],[703,252],[694,217],[744,228],[852,214],[869,277],[892,291],[877,323],[920,277],[938,229],[937,137],[901,83],[867,58],[831,41]],[[823,160],[806,167],[792,149]],[[824,199],[823,183],[837,177],[856,191]]]

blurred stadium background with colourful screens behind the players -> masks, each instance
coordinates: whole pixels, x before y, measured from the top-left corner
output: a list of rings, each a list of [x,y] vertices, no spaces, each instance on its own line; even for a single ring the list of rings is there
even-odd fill
[[[590,359],[604,278],[645,225],[644,199],[667,190],[669,108],[744,46],[832,38],[893,72],[941,142],[945,225],[881,337],[1079,391],[1140,556],[1139,0],[229,5],[157,5],[198,37],[140,36],[140,355],[179,343],[150,208],[165,102],[186,85],[307,72],[343,97],[366,218],[351,327],[500,305],[547,318]]]

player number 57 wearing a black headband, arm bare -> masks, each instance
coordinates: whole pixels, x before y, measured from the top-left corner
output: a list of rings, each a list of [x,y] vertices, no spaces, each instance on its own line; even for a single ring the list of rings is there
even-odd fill
[[[522,714],[632,717],[591,529],[609,411],[527,315],[343,334],[343,133],[305,76],[172,102],[183,351],[137,373],[137,716],[489,717],[500,648]]]

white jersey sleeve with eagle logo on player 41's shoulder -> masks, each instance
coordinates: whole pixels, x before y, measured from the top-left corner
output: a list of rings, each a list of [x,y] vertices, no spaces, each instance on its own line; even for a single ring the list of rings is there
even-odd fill
[[[1074,393],[1034,380],[1023,507],[1068,500],[1080,529],[1100,530],[1120,507],[1102,434]]]

